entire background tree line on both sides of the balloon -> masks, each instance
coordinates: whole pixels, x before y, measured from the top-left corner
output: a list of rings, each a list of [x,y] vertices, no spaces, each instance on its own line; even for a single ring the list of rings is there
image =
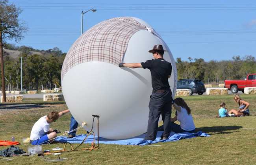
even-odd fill
[[[22,89],[52,89],[61,85],[61,68],[66,56],[59,48],[35,50],[32,47],[5,44],[6,49],[22,51]],[[34,51],[34,54],[31,54]],[[38,52],[38,54],[37,54]],[[6,90],[20,90],[20,57],[4,54]],[[254,56],[236,56],[230,60],[204,61],[202,58],[182,61],[176,59],[178,79],[199,79],[204,83],[223,83],[224,80],[244,79],[249,73],[256,73]],[[0,80],[2,81],[2,80]],[[2,84],[2,83],[0,83]],[[2,90],[2,85],[0,86]]]

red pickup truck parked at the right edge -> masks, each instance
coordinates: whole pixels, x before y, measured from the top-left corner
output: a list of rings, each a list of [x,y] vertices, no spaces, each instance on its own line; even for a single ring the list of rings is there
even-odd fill
[[[256,74],[248,74],[245,80],[225,80],[224,87],[232,93],[244,92],[245,87],[256,87]]]

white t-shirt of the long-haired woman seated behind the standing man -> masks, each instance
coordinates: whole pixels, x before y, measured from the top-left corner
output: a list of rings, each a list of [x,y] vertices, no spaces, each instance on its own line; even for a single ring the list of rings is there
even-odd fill
[[[195,130],[195,124],[193,122],[191,114],[187,114],[185,108],[181,108],[181,111],[177,111],[177,120],[180,122],[180,128],[185,131]]]

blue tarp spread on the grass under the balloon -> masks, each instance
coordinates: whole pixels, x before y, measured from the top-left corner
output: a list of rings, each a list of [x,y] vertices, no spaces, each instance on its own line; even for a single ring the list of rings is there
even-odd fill
[[[99,143],[102,144],[115,144],[115,145],[150,145],[158,142],[168,142],[168,141],[178,141],[180,139],[190,139],[193,137],[198,137],[198,136],[203,136],[203,137],[208,137],[210,135],[203,133],[201,131],[197,133],[175,133],[171,132],[171,135],[169,139],[161,140],[160,141],[160,136],[162,135],[163,131],[158,131],[156,140],[151,141],[151,140],[143,140],[146,134],[142,134],[136,137],[128,138],[128,139],[121,139],[121,140],[115,140],[115,139],[105,139],[102,137],[99,137]],[[57,137],[55,140],[59,141],[61,143],[82,143],[83,139],[85,139],[86,135],[76,135],[73,138],[67,138],[65,137]],[[91,143],[94,140],[93,135],[89,135],[87,139],[85,140],[84,143]],[[97,136],[95,135],[95,142],[97,143]]]

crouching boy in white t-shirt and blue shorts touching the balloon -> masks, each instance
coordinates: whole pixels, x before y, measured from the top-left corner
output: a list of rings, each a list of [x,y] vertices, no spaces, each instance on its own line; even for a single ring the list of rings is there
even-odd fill
[[[30,143],[32,145],[48,144],[54,141],[57,137],[57,130],[50,128],[51,122],[56,122],[59,117],[69,113],[69,109],[61,112],[52,111],[47,116],[41,117],[37,122],[35,122],[31,133],[30,133]]]

